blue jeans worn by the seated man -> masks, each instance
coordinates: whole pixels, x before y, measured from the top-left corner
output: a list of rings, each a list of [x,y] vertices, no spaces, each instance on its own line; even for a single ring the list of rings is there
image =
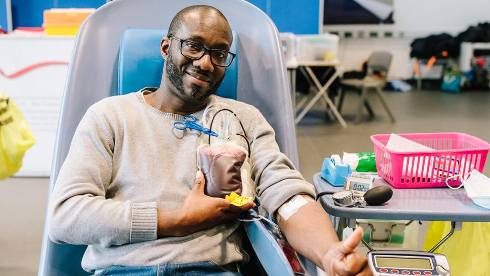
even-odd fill
[[[164,275],[216,275],[216,276],[238,276],[237,272],[225,270],[223,267],[214,262],[202,261],[191,263],[161,263],[152,266],[119,266],[112,265],[105,268],[96,276],[123,276],[123,275],[138,275],[138,276],[164,276]]]

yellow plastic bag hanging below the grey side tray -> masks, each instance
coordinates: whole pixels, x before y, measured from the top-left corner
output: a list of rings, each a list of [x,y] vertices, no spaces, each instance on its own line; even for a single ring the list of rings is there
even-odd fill
[[[451,222],[431,222],[424,250],[432,249],[450,230]],[[490,276],[490,222],[463,222],[461,231],[454,231],[435,252],[447,257],[451,276]]]

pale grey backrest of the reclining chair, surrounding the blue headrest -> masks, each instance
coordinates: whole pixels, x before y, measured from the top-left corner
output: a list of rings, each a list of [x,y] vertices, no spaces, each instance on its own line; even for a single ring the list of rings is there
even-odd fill
[[[76,37],[58,122],[48,201],[75,129],[86,110],[95,102],[118,94],[122,34],[130,28],[166,29],[178,11],[192,5],[213,6],[228,19],[236,32],[239,53],[235,58],[236,99],[262,112],[276,131],[281,151],[298,167],[286,66],[278,31],[266,14],[243,0],[117,0],[91,14]],[[88,274],[80,267],[85,248],[53,243],[45,225],[38,274]],[[269,265],[274,269],[273,265],[277,264]]]

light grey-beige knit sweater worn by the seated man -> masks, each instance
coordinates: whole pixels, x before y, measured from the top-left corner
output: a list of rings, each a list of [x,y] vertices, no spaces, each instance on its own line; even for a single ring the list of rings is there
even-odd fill
[[[155,89],[145,88],[144,93]],[[312,185],[279,151],[274,130],[259,110],[211,96],[211,103],[216,101],[234,110],[250,108],[238,117],[249,136],[257,128],[251,173],[267,211],[273,214],[295,194],[314,194]],[[202,111],[194,114],[201,115]],[[48,212],[51,240],[88,245],[82,260],[85,270],[163,262],[224,265],[248,259],[237,221],[157,239],[157,208],[182,206],[196,175],[196,147],[206,136],[173,128],[181,120],[180,115],[148,105],[140,92],[109,97],[88,109],[59,172]],[[251,124],[253,120],[259,124]]]

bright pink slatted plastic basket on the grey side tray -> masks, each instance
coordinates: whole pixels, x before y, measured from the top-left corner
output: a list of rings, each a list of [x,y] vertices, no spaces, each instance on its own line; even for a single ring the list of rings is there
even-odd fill
[[[433,148],[427,152],[397,152],[386,147],[390,134],[372,135],[380,176],[397,189],[446,187],[446,178],[464,175],[473,168],[483,171],[490,144],[464,133],[399,134]],[[459,179],[448,181],[459,186]]]

